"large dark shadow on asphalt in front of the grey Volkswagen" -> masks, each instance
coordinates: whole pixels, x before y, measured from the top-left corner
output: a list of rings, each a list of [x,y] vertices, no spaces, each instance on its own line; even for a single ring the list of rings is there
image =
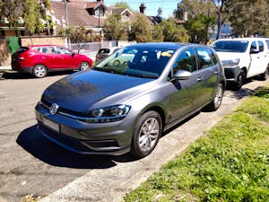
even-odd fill
[[[116,166],[117,162],[135,160],[128,154],[121,156],[74,154],[42,136],[37,125],[24,129],[16,142],[40,161],[58,167],[105,169]]]

